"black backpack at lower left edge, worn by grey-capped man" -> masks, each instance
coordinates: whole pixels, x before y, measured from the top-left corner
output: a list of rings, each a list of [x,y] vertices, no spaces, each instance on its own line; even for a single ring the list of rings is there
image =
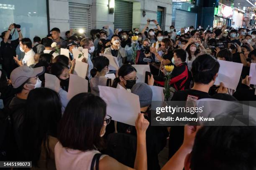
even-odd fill
[[[0,160],[15,160],[18,152],[18,145],[15,140],[12,114],[23,108],[23,105],[10,109],[0,109]]]

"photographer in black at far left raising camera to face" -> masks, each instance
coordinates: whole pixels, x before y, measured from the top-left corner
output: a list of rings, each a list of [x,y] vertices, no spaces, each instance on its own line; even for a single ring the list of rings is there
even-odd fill
[[[19,38],[16,40],[12,40],[11,31],[14,29],[18,31]],[[13,31],[13,32],[14,32]],[[15,62],[13,61],[13,56],[16,56],[16,48],[19,45],[19,40],[21,40],[22,34],[20,31],[20,25],[11,24],[7,31],[2,32],[2,41],[1,41],[1,47],[0,47],[0,56],[3,57],[1,59],[3,70],[7,72],[7,77],[10,77],[10,73],[12,70],[16,67]]]

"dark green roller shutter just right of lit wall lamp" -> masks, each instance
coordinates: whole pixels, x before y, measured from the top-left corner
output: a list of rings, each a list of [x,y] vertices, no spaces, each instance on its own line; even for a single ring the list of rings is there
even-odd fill
[[[115,0],[114,17],[115,28],[122,28],[126,31],[132,30],[133,2]]]

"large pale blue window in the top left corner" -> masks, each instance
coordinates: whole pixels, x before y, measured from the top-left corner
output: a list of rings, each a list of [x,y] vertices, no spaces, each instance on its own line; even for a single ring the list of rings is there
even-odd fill
[[[46,37],[48,34],[46,0],[1,0],[0,32],[8,30],[10,24],[21,26],[23,37],[33,41],[33,37]],[[13,40],[18,38],[18,32]]]

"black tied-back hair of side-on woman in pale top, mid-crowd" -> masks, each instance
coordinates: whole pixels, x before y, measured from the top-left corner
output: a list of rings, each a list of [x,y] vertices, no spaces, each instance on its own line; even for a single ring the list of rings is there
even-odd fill
[[[109,60],[105,56],[98,56],[94,60],[94,68],[91,70],[92,77],[95,77],[95,75],[98,72],[101,72],[101,70],[109,65]]]

